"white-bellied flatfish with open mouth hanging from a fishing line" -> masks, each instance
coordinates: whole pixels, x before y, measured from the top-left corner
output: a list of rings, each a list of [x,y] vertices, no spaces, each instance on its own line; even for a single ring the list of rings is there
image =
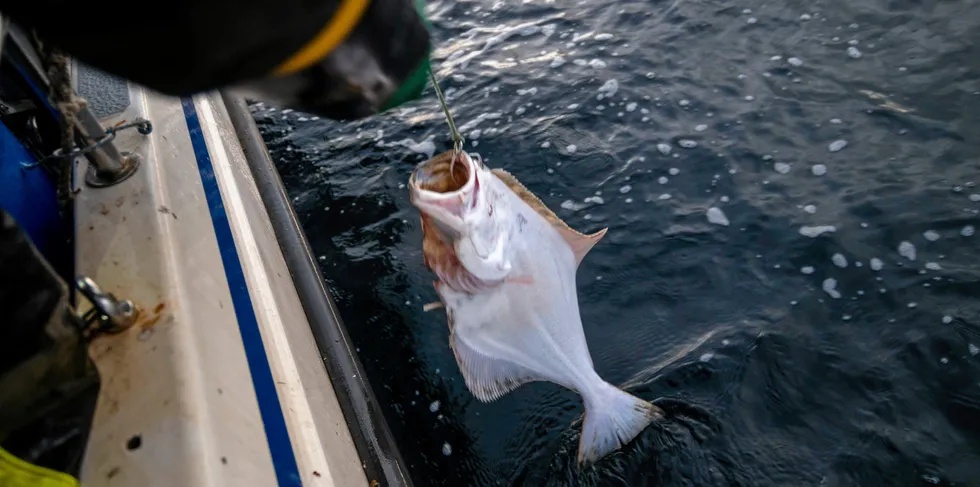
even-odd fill
[[[422,256],[437,280],[449,344],[469,391],[493,402],[549,381],[582,397],[579,465],[620,449],[664,416],[595,371],[582,329],[576,272],[607,228],[569,227],[509,172],[448,151],[409,177]]]

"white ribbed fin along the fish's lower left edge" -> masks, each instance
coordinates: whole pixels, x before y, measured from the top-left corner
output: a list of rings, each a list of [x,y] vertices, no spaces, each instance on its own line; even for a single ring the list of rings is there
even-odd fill
[[[451,327],[452,328],[452,327]],[[483,402],[493,402],[528,382],[541,380],[530,369],[509,360],[484,355],[453,333],[450,346],[466,387]]]

